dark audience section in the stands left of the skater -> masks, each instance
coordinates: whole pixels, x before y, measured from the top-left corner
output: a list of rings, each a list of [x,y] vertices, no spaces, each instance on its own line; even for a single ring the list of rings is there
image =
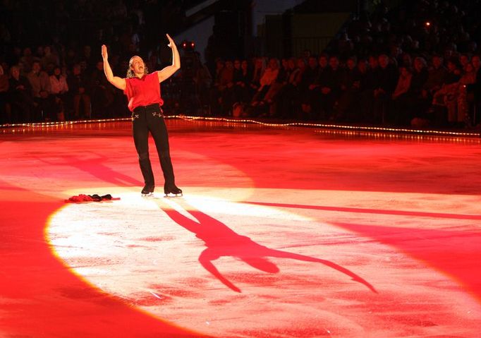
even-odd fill
[[[0,1],[0,124],[128,116],[104,76],[102,44],[117,76],[135,54],[158,70],[164,27],[180,28],[198,2]]]

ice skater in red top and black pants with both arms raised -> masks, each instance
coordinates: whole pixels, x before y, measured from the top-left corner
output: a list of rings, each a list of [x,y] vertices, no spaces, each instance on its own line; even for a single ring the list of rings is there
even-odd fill
[[[173,175],[169,135],[161,108],[164,100],[161,97],[159,85],[181,68],[181,57],[178,54],[176,43],[169,34],[166,36],[169,39],[169,47],[172,49],[171,66],[166,66],[162,71],[148,73],[142,58],[135,55],[128,62],[126,78],[114,76],[109,64],[107,47],[104,44],[102,45],[105,76],[109,83],[123,90],[128,99],[128,109],[132,112],[133,140],[138,153],[140,171],[142,171],[144,177],[145,186],[142,188],[142,195],[145,196],[152,195],[155,187],[154,174],[149,158],[149,132],[154,138],[160,165],[164,173],[165,195],[182,195],[181,189],[176,186]]]

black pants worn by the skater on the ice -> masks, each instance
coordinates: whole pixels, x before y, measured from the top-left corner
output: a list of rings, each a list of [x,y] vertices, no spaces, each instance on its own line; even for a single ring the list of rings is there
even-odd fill
[[[136,107],[132,112],[132,130],[145,186],[154,187],[155,185],[152,165],[149,159],[149,132],[154,138],[155,147],[157,147],[160,165],[164,172],[165,186],[175,186],[169,152],[169,135],[167,134],[164,116],[162,116],[162,109],[159,104]]]

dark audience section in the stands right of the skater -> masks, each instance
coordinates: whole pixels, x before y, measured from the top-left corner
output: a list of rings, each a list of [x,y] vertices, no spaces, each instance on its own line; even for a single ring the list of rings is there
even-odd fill
[[[480,9],[480,1],[380,4],[346,23],[320,55],[219,60],[209,105],[236,116],[477,126]]]

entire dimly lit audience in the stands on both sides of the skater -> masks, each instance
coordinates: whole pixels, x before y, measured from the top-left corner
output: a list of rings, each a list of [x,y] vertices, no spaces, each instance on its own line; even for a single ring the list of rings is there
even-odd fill
[[[88,0],[72,1],[71,8],[63,1],[51,7],[26,1],[27,12],[4,1],[0,17],[8,12],[11,19],[0,24],[0,123],[128,116],[123,93],[106,82],[100,44],[109,44],[116,75],[126,73],[133,54],[145,57],[151,70],[163,65],[158,36],[149,36],[152,1],[110,2],[112,10],[99,13]],[[217,59],[209,69],[197,52],[184,51],[181,71],[162,84],[164,110],[474,127],[481,118],[479,9],[480,1],[403,1],[391,11],[381,3],[346,23],[320,55]],[[21,13],[41,20],[13,25]],[[68,20],[92,24],[72,31]],[[26,38],[32,30],[38,34]],[[44,36],[46,43],[37,45]]]

